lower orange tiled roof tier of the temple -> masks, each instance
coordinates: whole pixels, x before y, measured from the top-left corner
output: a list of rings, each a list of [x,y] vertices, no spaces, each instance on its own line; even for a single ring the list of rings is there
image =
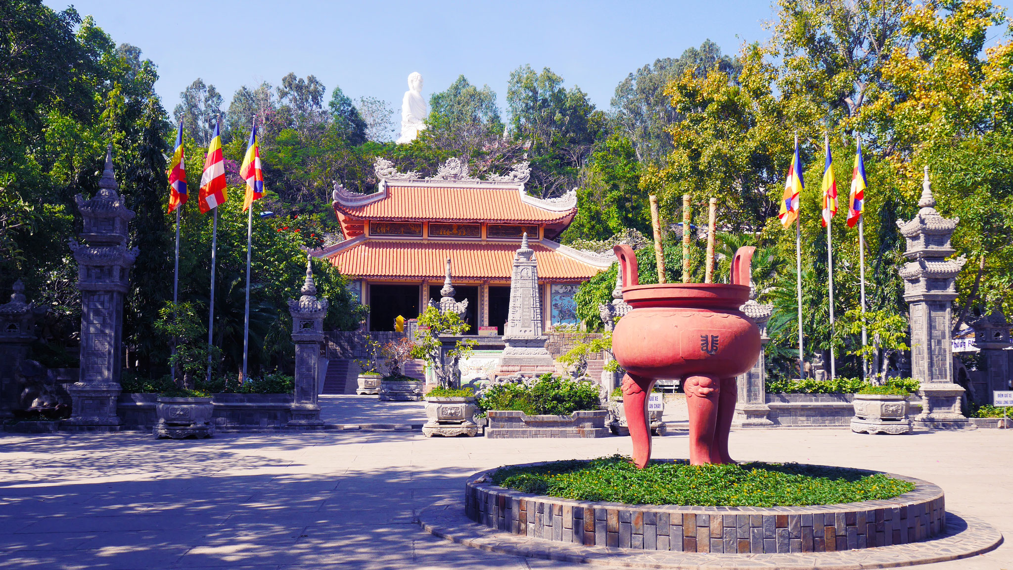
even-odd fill
[[[487,191],[483,191],[487,192]],[[530,247],[540,279],[577,280],[605,268],[563,255],[537,241]],[[366,278],[443,279],[451,259],[454,279],[510,279],[518,243],[385,241],[366,239],[325,255],[342,275]]]

